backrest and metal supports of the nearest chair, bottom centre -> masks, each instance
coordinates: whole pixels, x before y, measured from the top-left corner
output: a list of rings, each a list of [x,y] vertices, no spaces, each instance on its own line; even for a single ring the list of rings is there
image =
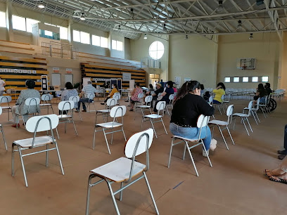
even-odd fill
[[[147,129],[146,131],[141,131],[139,133],[134,133],[128,140],[125,145],[125,155],[129,158],[132,158],[131,171],[129,172],[129,181],[131,181],[134,171],[134,161],[137,155],[141,155],[146,152],[146,169],[149,169],[149,155],[148,149],[151,147],[153,142],[153,129]]]

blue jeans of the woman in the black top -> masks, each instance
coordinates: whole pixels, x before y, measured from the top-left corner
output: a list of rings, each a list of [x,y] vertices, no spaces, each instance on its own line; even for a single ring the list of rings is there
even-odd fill
[[[177,124],[170,123],[170,132],[172,132],[173,135],[176,136],[182,136],[184,138],[189,138],[189,139],[196,139],[199,136],[199,131],[198,127],[181,127],[178,126]],[[203,139],[203,144],[205,146],[206,150],[209,150],[210,148],[210,142],[211,142],[211,132],[209,126],[203,127],[200,133],[200,138]]]

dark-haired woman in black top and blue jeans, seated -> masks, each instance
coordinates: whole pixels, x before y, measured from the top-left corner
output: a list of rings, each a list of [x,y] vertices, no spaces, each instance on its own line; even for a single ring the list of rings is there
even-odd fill
[[[199,131],[197,127],[200,115],[211,116],[215,109],[200,96],[200,83],[197,81],[185,82],[179,89],[172,109],[170,131],[173,135],[196,139]],[[211,132],[208,126],[203,127],[200,138],[203,139],[208,151],[211,142]]]

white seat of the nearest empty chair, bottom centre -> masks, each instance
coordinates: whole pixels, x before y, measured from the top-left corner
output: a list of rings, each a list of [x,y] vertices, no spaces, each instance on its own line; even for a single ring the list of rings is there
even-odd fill
[[[101,167],[91,170],[92,173],[108,178],[111,181],[122,182],[129,180],[129,172],[131,171],[132,159],[120,157],[113,162],[105,164]],[[134,171],[132,177],[144,171],[146,165],[134,162]]]

